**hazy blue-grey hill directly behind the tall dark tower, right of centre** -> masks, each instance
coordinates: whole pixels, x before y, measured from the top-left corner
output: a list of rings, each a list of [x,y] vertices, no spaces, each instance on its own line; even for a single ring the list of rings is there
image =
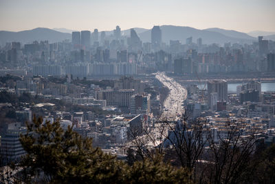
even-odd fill
[[[162,41],[165,43],[169,43],[170,40],[179,40],[181,43],[186,43],[186,39],[188,37],[192,37],[192,41],[194,43],[197,42],[198,38],[201,38],[203,44],[207,43],[252,43],[255,38],[247,39],[247,37],[236,38],[236,37],[228,37],[220,32],[214,32],[210,30],[197,30],[195,28],[185,27],[185,26],[175,26],[175,25],[162,25],[160,26],[162,30]],[[151,30],[147,30],[146,32],[142,32],[139,34],[140,38],[144,42],[151,41]]]

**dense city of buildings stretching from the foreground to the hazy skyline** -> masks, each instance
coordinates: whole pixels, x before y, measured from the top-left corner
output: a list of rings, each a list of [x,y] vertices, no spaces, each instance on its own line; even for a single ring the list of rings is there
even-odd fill
[[[14,176],[22,156],[37,154],[28,149],[28,136],[38,134],[31,125],[60,126],[129,165],[162,155],[186,168],[187,183],[273,183],[275,41],[204,44],[190,35],[167,43],[162,26],[150,32],[148,42],[140,30],[117,26],[58,42],[2,44],[1,168],[14,163]]]

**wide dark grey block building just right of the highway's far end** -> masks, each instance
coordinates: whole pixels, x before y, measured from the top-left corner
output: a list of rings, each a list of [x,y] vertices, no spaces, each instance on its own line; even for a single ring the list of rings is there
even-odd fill
[[[192,73],[192,60],[188,59],[175,59],[174,65],[175,74],[191,74]]]

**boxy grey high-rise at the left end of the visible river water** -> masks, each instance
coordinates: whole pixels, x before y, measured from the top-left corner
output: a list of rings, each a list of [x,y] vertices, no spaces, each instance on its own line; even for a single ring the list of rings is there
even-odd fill
[[[227,101],[228,99],[228,82],[225,80],[214,80],[207,83],[208,105],[211,105],[211,94],[217,93],[217,101]],[[212,107],[210,107],[212,108]]]

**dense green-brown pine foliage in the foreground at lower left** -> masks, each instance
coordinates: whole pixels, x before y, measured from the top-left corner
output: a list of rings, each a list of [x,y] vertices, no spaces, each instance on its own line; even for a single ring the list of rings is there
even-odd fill
[[[58,121],[46,122],[34,117],[21,135],[27,154],[21,161],[22,176],[29,182],[54,183],[190,183],[184,168],[164,163],[160,156],[135,162],[132,166],[92,147],[69,127]]]

